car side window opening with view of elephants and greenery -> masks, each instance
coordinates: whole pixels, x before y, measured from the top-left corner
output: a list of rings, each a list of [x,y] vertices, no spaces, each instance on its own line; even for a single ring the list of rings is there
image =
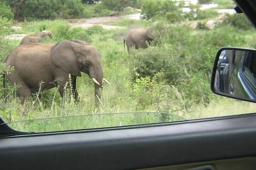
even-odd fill
[[[254,28],[235,6],[2,0],[0,126],[52,132],[255,112],[254,103],[210,88],[220,47],[256,46]],[[228,59],[221,57],[224,68]],[[244,65],[249,77],[252,63]]]

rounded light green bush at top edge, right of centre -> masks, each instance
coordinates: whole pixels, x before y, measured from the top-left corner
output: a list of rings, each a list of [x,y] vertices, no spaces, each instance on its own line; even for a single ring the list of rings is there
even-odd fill
[[[170,22],[176,22],[182,19],[182,10],[174,1],[145,0],[142,3],[142,16],[145,19],[165,17]]]

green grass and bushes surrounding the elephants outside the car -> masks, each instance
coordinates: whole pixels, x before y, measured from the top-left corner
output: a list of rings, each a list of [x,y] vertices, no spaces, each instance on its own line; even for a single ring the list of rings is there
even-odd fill
[[[86,2],[83,1],[85,4],[82,6],[91,7],[87,10],[115,10],[105,8],[104,3],[88,5],[89,1]],[[18,24],[22,27],[21,30],[13,30],[10,28],[12,17],[0,13],[0,17],[5,18],[0,20],[4,25],[0,27],[1,70],[7,69],[4,59],[19,44],[19,40],[8,40],[3,36],[10,33],[34,34],[46,29],[51,30],[54,36],[52,39],[44,39],[43,43],[81,39],[95,45],[102,57],[104,77],[111,82],[110,85],[103,86],[99,108],[94,107],[94,86],[85,74],[77,79],[79,104],[74,99],[62,99],[57,89],[53,88],[34,93],[30,100],[21,105],[15,95],[17,86],[7,81],[6,90],[3,89],[3,83],[0,83],[2,98],[8,96],[5,101],[0,100],[0,117],[7,122],[28,119],[10,126],[18,130],[44,132],[160,123],[181,120],[182,117],[200,118],[231,114],[230,111],[225,112],[227,109],[233,109],[234,114],[250,112],[251,108],[255,107],[250,103],[214,95],[210,90],[210,78],[218,48],[255,48],[256,41],[252,38],[256,35],[255,31],[249,27],[244,29],[243,24],[246,23],[241,15],[227,15],[226,20],[212,30],[191,29],[184,21],[204,21],[216,17],[216,13],[213,10],[195,10],[198,15],[184,15],[179,7],[171,1],[144,0],[142,13],[147,20],[123,19],[112,23],[124,27],[115,30],[105,30],[101,26],[72,28],[62,19],[25,21]],[[174,11],[175,14],[172,13]],[[65,13],[69,17],[80,15],[68,11],[67,8]],[[239,22],[234,23],[234,20]],[[132,50],[128,54],[123,46],[123,38],[128,29],[142,26],[153,26],[158,38],[150,47]],[[67,91],[66,95],[68,93]],[[217,110],[216,106],[221,109]],[[147,113],[130,113],[134,111]],[[77,116],[67,117],[74,115]],[[50,117],[61,118],[49,119]],[[31,121],[38,118],[48,119]]]

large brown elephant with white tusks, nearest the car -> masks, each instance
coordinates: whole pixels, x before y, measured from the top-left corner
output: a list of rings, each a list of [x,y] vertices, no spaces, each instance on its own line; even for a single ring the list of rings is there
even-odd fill
[[[76,78],[81,76],[80,71],[82,71],[94,81],[95,101],[99,102],[99,88],[102,87],[102,80],[105,80],[100,55],[94,46],[81,40],[74,41],[22,44],[6,58],[6,65],[14,66],[14,70],[7,75],[8,79],[12,84],[21,85],[17,95],[22,101],[27,96],[31,96],[31,92],[39,90],[40,82],[43,82],[41,89],[58,87],[63,96],[64,86],[69,82],[69,74],[71,74],[73,94],[77,100]],[[71,86],[66,88],[68,87]]]

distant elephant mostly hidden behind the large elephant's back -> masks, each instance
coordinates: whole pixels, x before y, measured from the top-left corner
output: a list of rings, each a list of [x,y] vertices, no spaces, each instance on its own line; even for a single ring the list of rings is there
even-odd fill
[[[51,31],[43,30],[36,36],[32,36],[32,35],[25,36],[24,38],[22,38],[22,40],[20,41],[19,44],[21,45],[21,44],[26,44],[26,43],[30,43],[30,42],[39,43],[39,42],[41,42],[42,38],[44,38],[46,36],[52,38],[53,34]]]

